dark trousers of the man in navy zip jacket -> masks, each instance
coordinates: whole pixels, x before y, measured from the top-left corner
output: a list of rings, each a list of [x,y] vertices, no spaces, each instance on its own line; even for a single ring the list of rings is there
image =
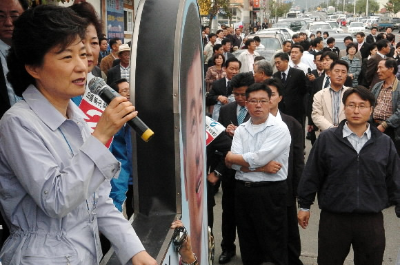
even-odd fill
[[[343,265],[350,246],[354,265],[381,265],[385,252],[382,213],[330,213],[321,211],[318,231],[318,264]]]

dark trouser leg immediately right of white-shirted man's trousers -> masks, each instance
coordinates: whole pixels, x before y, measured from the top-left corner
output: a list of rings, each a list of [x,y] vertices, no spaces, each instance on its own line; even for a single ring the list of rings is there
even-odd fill
[[[296,199],[294,199],[296,200]],[[303,265],[300,260],[301,241],[299,232],[299,223],[297,222],[296,202],[288,209],[288,259],[290,265]]]

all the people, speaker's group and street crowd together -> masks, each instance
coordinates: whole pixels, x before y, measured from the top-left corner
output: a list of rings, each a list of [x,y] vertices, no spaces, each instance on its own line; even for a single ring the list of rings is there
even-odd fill
[[[94,8],[78,1],[31,9],[1,1],[0,23],[0,209],[10,229],[2,264],[99,264],[100,233],[121,264],[157,264],[121,214],[123,205],[133,213],[130,45],[108,41]],[[254,21],[252,33],[264,24]],[[219,182],[223,191],[218,262],[236,255],[237,232],[245,265],[302,264],[299,226],[318,194],[319,264],[343,264],[351,245],[354,264],[381,264],[381,211],[395,205],[400,218],[394,35],[359,32],[339,50],[328,34],[327,47],[318,33],[294,34],[269,61],[242,26],[202,34],[208,114],[226,127],[207,147],[211,227]],[[79,105],[94,76],[122,96],[90,131]],[[182,261],[196,264],[186,238]]]

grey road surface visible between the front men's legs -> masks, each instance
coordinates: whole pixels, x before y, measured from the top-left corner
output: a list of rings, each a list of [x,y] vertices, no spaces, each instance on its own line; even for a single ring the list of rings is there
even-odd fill
[[[310,141],[306,140],[306,153],[310,153]],[[308,156],[306,155],[306,158]],[[218,264],[221,255],[221,196],[222,191],[215,196],[217,206],[214,207],[214,237],[215,237],[215,258],[214,264]],[[400,260],[396,264],[397,254],[400,251],[400,219],[394,214],[394,206],[383,211],[386,229],[386,251],[383,257],[383,265],[400,265]],[[311,207],[311,217],[308,229],[300,229],[301,233],[301,260],[305,265],[317,264],[317,233],[319,223],[319,209],[317,205]],[[241,263],[239,241],[236,240],[237,255],[228,263],[229,265],[239,265]],[[399,257],[400,259],[400,257]],[[353,255],[350,251],[344,265],[353,264]],[[368,265],[368,264],[366,264]]]

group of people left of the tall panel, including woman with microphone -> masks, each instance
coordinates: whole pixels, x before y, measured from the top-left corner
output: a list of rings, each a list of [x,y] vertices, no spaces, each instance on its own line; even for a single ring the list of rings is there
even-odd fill
[[[4,265],[99,264],[107,242],[121,264],[157,264],[121,213],[123,206],[133,213],[126,122],[137,112],[129,100],[130,46],[108,43],[102,29],[86,1],[68,8],[0,2]],[[94,76],[122,96],[91,131],[79,106]]]

